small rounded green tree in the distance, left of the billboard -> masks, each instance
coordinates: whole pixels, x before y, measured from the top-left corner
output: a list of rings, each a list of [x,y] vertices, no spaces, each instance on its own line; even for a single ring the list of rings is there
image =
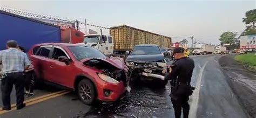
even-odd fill
[[[223,32],[219,38],[221,43],[224,44],[235,44],[238,42],[238,39],[235,38],[237,36],[237,32]]]

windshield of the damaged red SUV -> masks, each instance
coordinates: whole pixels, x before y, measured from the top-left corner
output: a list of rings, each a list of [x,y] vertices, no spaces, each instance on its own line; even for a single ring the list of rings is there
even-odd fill
[[[70,46],[70,51],[73,55],[78,59],[82,60],[85,58],[105,58],[106,56],[93,47],[85,47],[85,46]]]

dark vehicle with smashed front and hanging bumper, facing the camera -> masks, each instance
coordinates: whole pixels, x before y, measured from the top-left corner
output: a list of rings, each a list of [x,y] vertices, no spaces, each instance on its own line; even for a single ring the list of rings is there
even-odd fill
[[[132,78],[142,81],[156,81],[156,86],[165,87],[163,70],[167,62],[157,45],[136,45],[126,57],[125,64],[130,68]]]

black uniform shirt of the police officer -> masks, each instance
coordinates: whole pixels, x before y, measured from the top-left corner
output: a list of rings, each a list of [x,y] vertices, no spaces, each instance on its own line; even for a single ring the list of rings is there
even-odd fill
[[[194,69],[194,61],[188,57],[183,57],[174,60],[171,65],[172,72],[169,74],[169,79],[178,78],[178,82],[190,84]]]

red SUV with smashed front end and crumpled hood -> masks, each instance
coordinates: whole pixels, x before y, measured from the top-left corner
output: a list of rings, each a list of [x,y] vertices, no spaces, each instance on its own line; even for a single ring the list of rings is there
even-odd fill
[[[34,45],[29,58],[37,79],[72,88],[80,100],[116,101],[130,92],[127,67],[119,58],[107,58],[93,47],[78,44]]]

